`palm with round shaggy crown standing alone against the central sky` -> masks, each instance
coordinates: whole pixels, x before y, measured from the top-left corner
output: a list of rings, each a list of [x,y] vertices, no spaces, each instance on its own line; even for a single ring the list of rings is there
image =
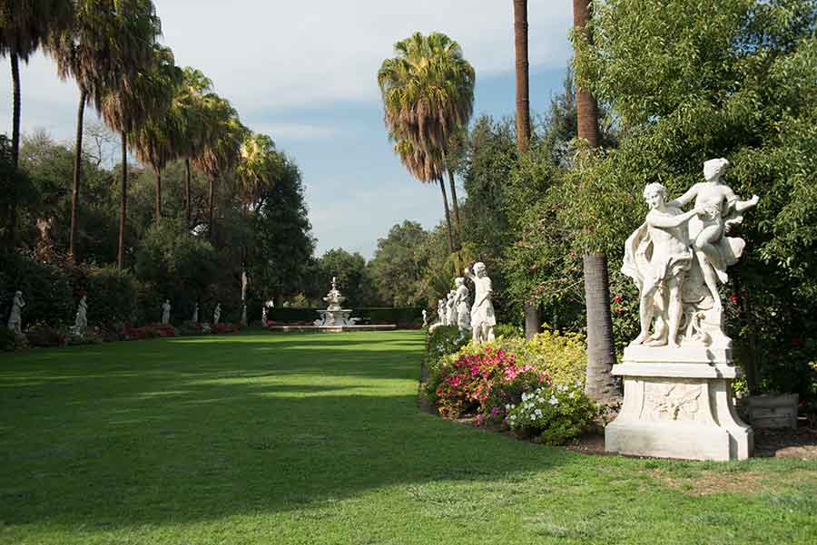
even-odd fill
[[[473,112],[474,68],[445,34],[415,33],[394,49],[397,56],[383,61],[378,72],[384,121],[400,161],[418,180],[439,183],[453,252],[443,172],[450,142],[468,126]],[[453,177],[450,181],[456,192]]]

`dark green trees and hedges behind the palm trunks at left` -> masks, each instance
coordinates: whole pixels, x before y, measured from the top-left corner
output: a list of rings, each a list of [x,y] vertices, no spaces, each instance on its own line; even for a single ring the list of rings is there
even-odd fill
[[[72,151],[52,141],[44,132],[25,138],[21,167],[33,197],[18,207],[21,246],[0,256],[0,316],[8,316],[16,289],[25,294],[24,327],[36,323],[68,326],[74,323],[77,302],[88,296],[89,322],[94,326],[115,323],[156,322],[165,298],[172,302],[172,321],[192,317],[194,305],[200,319],[210,321],[212,308],[221,302],[222,320],[238,322],[241,314],[241,264],[249,265],[248,294],[251,319],[261,317],[261,300],[298,293],[312,277],[309,268],[314,241],[297,166],[289,159],[276,166],[276,182],[253,193],[252,212],[241,209],[231,185],[219,187],[221,228],[207,239],[206,182],[192,176],[191,228],[185,218],[181,161],[162,173],[162,221],[154,221],[155,175],[131,169],[130,229],[126,231],[126,258],[133,265],[123,271],[116,261],[118,186],[112,181],[119,166],[110,170],[105,150],[110,135],[93,127],[95,138],[86,139],[84,195],[87,205],[79,218],[75,248],[84,256],[74,263],[64,258],[71,217],[70,180]],[[37,220],[47,219],[44,234]],[[252,251],[242,252],[242,248]],[[264,248],[276,248],[273,255]],[[262,251],[263,250],[263,251]]]

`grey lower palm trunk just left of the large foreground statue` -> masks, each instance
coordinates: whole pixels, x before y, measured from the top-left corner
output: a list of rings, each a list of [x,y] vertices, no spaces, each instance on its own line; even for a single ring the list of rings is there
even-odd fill
[[[587,311],[587,380],[585,393],[599,404],[616,404],[618,384],[611,371],[615,365],[613,323],[610,315],[610,283],[607,258],[590,253],[584,258]]]

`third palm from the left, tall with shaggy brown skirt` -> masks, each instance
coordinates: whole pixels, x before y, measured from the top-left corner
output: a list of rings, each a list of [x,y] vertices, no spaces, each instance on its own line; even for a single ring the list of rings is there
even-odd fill
[[[162,97],[146,93],[150,86],[146,73],[150,71],[159,47],[156,40],[162,25],[151,0],[112,0],[121,14],[123,26],[117,34],[116,46],[129,61],[118,63],[111,73],[111,84],[100,97],[99,111],[105,123],[122,134],[122,179],[119,209],[119,249],[117,265],[124,266],[124,233],[128,211],[128,134],[142,126],[148,114],[157,109]]]

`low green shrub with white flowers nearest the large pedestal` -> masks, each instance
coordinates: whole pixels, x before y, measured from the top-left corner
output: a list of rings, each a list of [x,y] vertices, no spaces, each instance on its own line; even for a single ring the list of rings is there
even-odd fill
[[[507,404],[506,422],[512,430],[536,435],[545,444],[564,444],[584,433],[596,416],[596,405],[581,384],[543,384],[523,393],[518,404]]]

